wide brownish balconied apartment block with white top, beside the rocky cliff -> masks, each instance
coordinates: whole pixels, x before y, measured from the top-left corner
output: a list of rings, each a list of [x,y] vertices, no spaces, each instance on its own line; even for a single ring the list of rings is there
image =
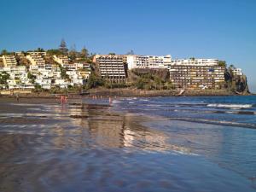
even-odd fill
[[[177,88],[221,89],[224,70],[215,59],[172,60],[170,78]]]

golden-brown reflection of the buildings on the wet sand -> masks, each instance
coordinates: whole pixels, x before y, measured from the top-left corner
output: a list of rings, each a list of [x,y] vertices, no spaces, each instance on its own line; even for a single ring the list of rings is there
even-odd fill
[[[69,124],[55,127],[54,144],[60,146],[82,146],[96,148],[137,148],[141,150],[165,151],[189,149],[168,143],[163,131],[155,131],[140,125],[144,117],[132,114],[110,113],[109,106],[76,105],[76,108],[54,108],[55,113],[71,117]],[[72,139],[71,139],[72,138]]]

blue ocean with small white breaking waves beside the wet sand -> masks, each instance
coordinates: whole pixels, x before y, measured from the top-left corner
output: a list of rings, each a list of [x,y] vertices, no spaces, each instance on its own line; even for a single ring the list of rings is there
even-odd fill
[[[256,188],[256,96],[133,97],[113,100],[113,108],[161,117],[143,125],[167,137],[163,147],[185,148],[184,155],[203,157]]]

